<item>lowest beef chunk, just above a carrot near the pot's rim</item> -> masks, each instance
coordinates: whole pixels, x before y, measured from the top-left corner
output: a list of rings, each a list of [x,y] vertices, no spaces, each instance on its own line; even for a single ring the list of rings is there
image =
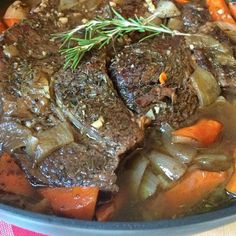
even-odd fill
[[[80,136],[73,142],[34,165],[25,152],[15,152],[15,158],[34,186],[98,186],[104,191],[117,191],[115,170],[119,159],[99,148],[93,141]]]

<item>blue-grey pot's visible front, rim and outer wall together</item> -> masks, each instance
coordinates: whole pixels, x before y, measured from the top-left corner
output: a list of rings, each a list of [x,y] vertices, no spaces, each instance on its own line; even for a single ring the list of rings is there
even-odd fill
[[[225,208],[173,220],[95,222],[44,215],[0,204],[0,220],[50,236],[192,235],[236,220],[236,203]]]

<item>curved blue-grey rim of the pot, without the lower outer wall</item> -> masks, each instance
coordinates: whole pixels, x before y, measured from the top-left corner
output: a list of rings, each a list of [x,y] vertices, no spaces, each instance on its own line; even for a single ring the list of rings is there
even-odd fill
[[[0,212],[8,216],[22,219],[38,224],[50,224],[51,226],[69,227],[76,229],[88,229],[88,230],[155,230],[155,229],[170,229],[175,227],[184,227],[190,225],[207,224],[217,221],[232,221],[232,218],[236,218],[236,202],[230,204],[225,208],[215,210],[208,213],[202,213],[198,215],[186,216],[178,219],[170,220],[156,220],[156,221],[111,221],[111,222],[97,222],[97,221],[85,221],[78,219],[69,219],[65,217],[59,217],[54,215],[46,215],[41,213],[35,213],[26,211],[23,209],[15,208],[5,204],[0,204]],[[4,219],[3,219],[4,220]]]

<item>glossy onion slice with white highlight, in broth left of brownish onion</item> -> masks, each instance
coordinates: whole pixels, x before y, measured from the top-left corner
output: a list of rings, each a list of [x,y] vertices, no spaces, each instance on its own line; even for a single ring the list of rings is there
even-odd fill
[[[183,163],[163,153],[153,150],[148,158],[153,168],[162,171],[171,180],[178,180],[186,171]]]

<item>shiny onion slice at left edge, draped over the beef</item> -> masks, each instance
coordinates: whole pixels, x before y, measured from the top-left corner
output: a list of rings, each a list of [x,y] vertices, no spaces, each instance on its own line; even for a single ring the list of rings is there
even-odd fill
[[[38,142],[37,138],[31,134],[28,128],[16,122],[1,123],[0,131],[2,150],[13,152],[15,149],[22,147],[33,149]]]

